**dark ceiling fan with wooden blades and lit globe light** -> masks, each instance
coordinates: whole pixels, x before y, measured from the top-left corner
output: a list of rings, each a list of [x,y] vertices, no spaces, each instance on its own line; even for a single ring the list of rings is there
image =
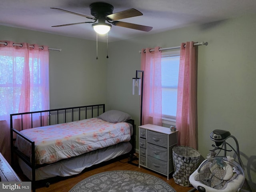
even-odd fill
[[[94,17],[74,13],[74,12],[59,9],[59,8],[52,8],[52,9],[57,9],[60,11],[64,11],[67,13],[75,14],[78,16],[82,16],[82,17],[94,20],[94,21],[90,21],[90,22],[79,22],[79,23],[71,23],[71,24],[64,24],[64,25],[56,25],[56,26],[52,26],[52,27],[62,27],[62,26],[70,26],[70,25],[76,25],[76,24],[93,23],[92,28],[94,28],[94,30],[99,34],[108,33],[108,31],[110,30],[112,25],[125,27],[125,28],[131,28],[131,29],[135,29],[135,30],[141,30],[141,31],[145,31],[145,32],[152,30],[152,27],[150,27],[150,26],[144,26],[144,25],[138,25],[138,24],[118,21],[120,19],[143,15],[140,11],[138,11],[134,8],[120,11],[120,12],[113,14],[114,7],[112,5],[110,5],[108,3],[104,3],[104,2],[96,2],[96,3],[90,4],[91,15]],[[97,21],[98,21],[98,23],[96,23]],[[106,22],[108,22],[110,24],[108,24]],[[102,28],[104,30],[100,31],[100,29],[102,30]]]

